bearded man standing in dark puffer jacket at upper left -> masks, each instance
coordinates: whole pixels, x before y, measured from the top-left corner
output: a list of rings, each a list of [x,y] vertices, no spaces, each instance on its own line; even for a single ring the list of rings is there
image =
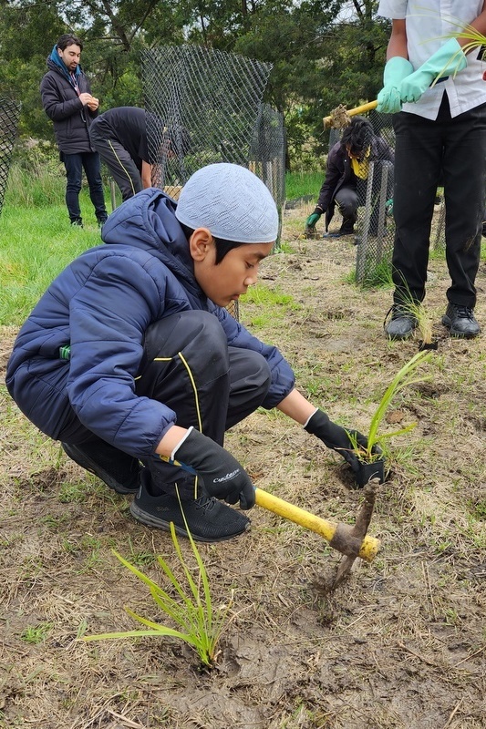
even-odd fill
[[[88,127],[98,116],[98,98],[91,95],[88,78],[79,66],[83,44],[70,34],[60,36],[47,58],[47,74],[40,84],[42,106],[54,122],[57,147],[67,175],[66,205],[71,225],[82,227],[79,191],[83,169],[99,225],[108,218],[98,152],[91,146]]]

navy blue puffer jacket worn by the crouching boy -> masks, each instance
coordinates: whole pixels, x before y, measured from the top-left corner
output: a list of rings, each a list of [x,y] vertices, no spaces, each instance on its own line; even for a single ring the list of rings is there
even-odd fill
[[[51,283],[22,326],[6,385],[44,433],[57,436],[73,411],[91,432],[135,457],[151,455],[176,416],[135,392],[150,323],[191,309],[213,313],[228,344],[263,354],[272,372],[265,407],[292,390],[282,354],[253,337],[202,293],[176,203],[155,188],[119,206],[103,228],[106,245],[70,263]],[[70,361],[59,347],[70,344]]]

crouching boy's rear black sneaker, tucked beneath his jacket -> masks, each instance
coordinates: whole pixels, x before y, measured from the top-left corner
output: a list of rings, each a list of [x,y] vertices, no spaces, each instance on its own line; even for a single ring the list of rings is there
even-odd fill
[[[119,494],[135,494],[139,490],[140,463],[108,443],[71,446],[61,443],[66,455],[81,468],[93,473]]]

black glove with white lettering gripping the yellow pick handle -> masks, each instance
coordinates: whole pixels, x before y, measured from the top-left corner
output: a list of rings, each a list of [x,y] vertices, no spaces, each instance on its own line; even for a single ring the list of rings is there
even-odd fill
[[[223,498],[228,504],[240,502],[241,508],[254,506],[254,488],[244,468],[227,450],[198,430],[189,435],[174,450],[174,457],[202,477],[210,496]]]

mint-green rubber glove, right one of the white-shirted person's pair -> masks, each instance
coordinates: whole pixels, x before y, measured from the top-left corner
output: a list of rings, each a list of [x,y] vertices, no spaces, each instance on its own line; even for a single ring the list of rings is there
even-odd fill
[[[467,65],[468,59],[464,56],[457,39],[450,38],[417,71],[403,79],[400,85],[402,103],[405,101],[419,101],[424,91],[436,79],[455,76],[458,71],[461,71]]]

